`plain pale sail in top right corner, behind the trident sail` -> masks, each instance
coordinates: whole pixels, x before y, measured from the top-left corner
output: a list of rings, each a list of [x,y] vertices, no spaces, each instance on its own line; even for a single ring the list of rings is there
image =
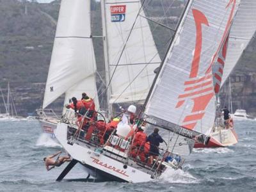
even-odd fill
[[[256,30],[256,1],[241,0],[234,22],[230,29],[227,58],[223,70],[221,86],[236,66]],[[223,63],[224,65],[224,63]],[[221,73],[219,74],[221,77]]]

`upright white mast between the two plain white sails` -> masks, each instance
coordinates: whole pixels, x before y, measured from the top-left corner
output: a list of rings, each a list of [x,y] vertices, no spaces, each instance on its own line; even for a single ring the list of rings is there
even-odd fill
[[[105,64],[105,78],[106,78],[106,88],[108,89],[106,92],[107,95],[107,107],[108,107],[108,118],[111,118],[113,115],[112,104],[109,103],[111,97],[111,86],[109,86],[109,57],[108,57],[108,38],[107,38],[107,29],[106,29],[106,8],[105,8],[105,0],[100,1],[101,7],[101,18],[102,18],[102,40],[104,46],[104,64]]]

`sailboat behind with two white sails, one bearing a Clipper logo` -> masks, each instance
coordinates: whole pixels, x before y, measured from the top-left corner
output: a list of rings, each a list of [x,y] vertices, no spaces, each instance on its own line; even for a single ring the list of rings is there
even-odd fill
[[[118,2],[122,6],[109,6]],[[43,132],[52,138],[55,138],[54,130],[60,118],[52,109],[45,108],[60,95],[65,93],[65,104],[72,97],[80,98],[83,92],[95,100],[97,109],[102,103],[99,103],[95,83],[98,73],[92,44],[90,5],[84,4],[78,9],[76,4],[79,6],[83,2],[61,2],[43,109],[37,110]],[[106,69],[106,82],[101,84],[108,86],[108,109],[104,110],[108,111],[109,118],[113,115],[113,104],[145,100],[154,80],[154,69],[161,63],[147,20],[140,18],[134,24],[139,11],[145,17],[140,8],[140,4],[132,2],[101,3]],[[85,17],[87,19],[82,20]],[[70,26],[68,31],[67,26]]]

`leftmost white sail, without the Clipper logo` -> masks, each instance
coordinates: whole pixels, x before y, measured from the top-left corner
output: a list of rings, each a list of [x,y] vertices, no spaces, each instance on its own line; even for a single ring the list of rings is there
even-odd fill
[[[83,92],[99,106],[90,18],[90,1],[61,1],[43,108],[63,93],[68,102]]]

